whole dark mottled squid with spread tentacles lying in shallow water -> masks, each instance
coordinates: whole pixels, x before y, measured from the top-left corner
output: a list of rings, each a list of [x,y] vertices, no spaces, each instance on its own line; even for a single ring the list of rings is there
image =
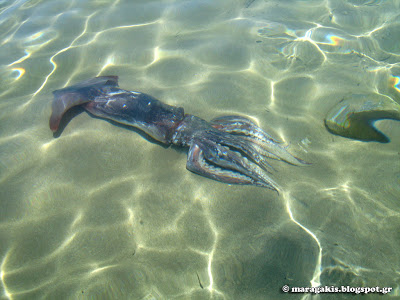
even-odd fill
[[[307,164],[247,118],[223,116],[207,122],[150,95],[120,89],[117,76],[96,77],[53,94],[53,132],[62,116],[79,105],[100,118],[139,128],[166,145],[189,147],[187,169],[225,183],[278,191],[278,184],[268,175],[272,167],[266,158]]]

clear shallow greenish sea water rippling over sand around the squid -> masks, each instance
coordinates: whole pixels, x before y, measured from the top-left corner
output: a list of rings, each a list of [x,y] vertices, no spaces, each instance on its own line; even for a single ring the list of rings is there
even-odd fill
[[[397,0],[0,1],[0,298],[399,296],[400,123],[384,144],[323,121],[352,94],[400,102],[399,40]],[[271,162],[277,195],[85,112],[53,137],[51,92],[98,75],[249,116],[312,164]]]

